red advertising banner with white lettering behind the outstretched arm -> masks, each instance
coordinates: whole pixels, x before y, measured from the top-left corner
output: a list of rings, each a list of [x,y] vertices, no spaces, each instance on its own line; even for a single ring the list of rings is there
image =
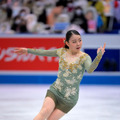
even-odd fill
[[[63,38],[0,38],[0,71],[57,71],[58,58],[33,54],[17,55],[14,53],[14,48],[26,47],[50,50],[63,46]]]

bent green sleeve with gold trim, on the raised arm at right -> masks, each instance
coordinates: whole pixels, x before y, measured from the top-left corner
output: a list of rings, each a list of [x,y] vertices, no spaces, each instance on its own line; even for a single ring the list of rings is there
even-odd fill
[[[91,57],[89,55],[87,55],[87,58],[86,58],[86,61],[85,61],[85,70],[88,72],[88,73],[92,73],[98,66],[100,60],[102,58],[102,52],[100,51],[96,58],[93,60],[91,60]]]

